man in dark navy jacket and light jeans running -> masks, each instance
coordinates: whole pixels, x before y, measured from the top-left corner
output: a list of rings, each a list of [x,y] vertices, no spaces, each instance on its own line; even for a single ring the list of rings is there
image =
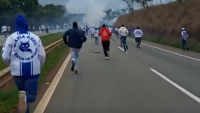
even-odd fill
[[[70,47],[72,67],[71,71],[75,70],[75,74],[79,74],[79,53],[82,48],[82,44],[86,42],[87,38],[84,31],[78,28],[77,22],[73,22],[73,28],[66,31],[63,35],[63,41],[65,45]]]

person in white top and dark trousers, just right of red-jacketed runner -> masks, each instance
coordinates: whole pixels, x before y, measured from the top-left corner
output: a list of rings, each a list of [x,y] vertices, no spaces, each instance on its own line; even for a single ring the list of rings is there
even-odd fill
[[[128,53],[127,50],[128,50],[128,45],[126,43],[126,38],[127,38],[127,35],[128,35],[128,30],[126,29],[126,27],[124,27],[124,25],[122,25],[120,28],[119,28],[119,31],[118,31],[119,35],[120,35],[120,40],[121,40],[121,44],[123,45],[124,47],[124,52]]]

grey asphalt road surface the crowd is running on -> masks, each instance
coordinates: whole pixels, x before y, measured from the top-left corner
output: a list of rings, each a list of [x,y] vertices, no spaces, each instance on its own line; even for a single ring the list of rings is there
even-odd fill
[[[130,40],[124,53],[118,44],[111,41],[106,61],[101,45],[89,38],[81,74],[68,65],[45,113],[200,113],[199,61],[145,45],[137,49]]]

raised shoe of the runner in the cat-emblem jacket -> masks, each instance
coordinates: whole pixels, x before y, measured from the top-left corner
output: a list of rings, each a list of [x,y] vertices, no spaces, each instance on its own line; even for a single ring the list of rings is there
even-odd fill
[[[19,113],[26,113],[27,103],[26,103],[26,92],[19,91]]]

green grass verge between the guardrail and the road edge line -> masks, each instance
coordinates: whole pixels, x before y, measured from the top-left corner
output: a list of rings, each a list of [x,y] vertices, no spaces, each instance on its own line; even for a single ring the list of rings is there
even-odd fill
[[[44,77],[48,70],[50,70],[58,60],[66,54],[66,47],[60,46],[58,49],[51,51],[46,59],[44,66],[42,67],[42,73],[40,75],[40,83],[44,80]],[[12,109],[16,108],[18,104],[18,92],[16,88],[9,89],[0,93],[0,113],[9,113]]]

